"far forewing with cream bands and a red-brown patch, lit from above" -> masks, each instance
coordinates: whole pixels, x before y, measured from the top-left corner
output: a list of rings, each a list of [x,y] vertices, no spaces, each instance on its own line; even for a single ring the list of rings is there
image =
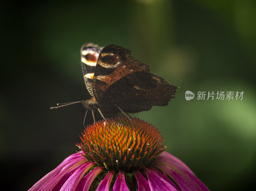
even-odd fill
[[[84,83],[91,96],[93,96],[92,82],[95,66],[102,48],[93,43],[85,43],[80,51]]]

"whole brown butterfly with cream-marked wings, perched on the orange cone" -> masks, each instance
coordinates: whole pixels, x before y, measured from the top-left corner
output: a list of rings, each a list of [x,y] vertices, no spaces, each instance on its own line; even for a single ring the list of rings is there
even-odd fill
[[[84,83],[91,99],[57,104],[52,109],[81,103],[86,113],[92,111],[95,122],[95,111],[99,111],[103,119],[103,114],[122,112],[127,116],[126,113],[148,111],[153,106],[166,106],[175,98],[178,87],[150,73],[149,66],[132,57],[128,49],[85,43],[80,54]]]

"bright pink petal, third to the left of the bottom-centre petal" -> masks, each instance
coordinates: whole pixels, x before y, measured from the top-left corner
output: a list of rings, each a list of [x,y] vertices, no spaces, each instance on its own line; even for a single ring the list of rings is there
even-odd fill
[[[94,166],[93,162],[88,162],[82,165],[79,169],[76,170],[69,178],[68,180],[63,184],[63,186],[60,188],[60,191],[74,191],[79,183],[79,181],[82,179],[84,174]]]

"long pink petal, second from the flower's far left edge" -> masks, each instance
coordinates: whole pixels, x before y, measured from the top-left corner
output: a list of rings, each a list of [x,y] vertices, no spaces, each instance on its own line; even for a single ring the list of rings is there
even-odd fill
[[[59,181],[60,179],[68,173],[70,170],[74,169],[76,166],[81,165],[83,163],[87,162],[87,159],[85,158],[79,158],[79,159],[73,159],[73,161],[67,161],[68,165],[64,166],[60,172],[54,176],[47,184],[44,185],[40,190],[42,191],[49,191],[51,190]],[[91,162],[87,162],[90,164]],[[95,164],[95,163],[94,163]]]

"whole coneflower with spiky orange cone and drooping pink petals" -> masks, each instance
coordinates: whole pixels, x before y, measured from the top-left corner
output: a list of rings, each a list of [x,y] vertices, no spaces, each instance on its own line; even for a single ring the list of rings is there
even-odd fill
[[[185,163],[164,151],[161,132],[145,121],[99,121],[85,128],[80,138],[81,151],[29,191],[208,191]]]

